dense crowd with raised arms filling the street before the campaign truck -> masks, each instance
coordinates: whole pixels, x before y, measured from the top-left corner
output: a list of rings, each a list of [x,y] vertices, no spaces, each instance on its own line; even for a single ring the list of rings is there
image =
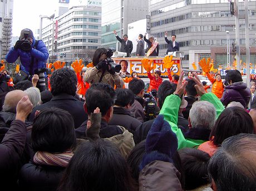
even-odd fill
[[[172,56],[165,81],[142,59],[145,93],[136,72],[122,77],[125,59],[120,73],[110,67],[105,48],[86,72],[75,61],[73,69],[48,64],[48,76],[45,68],[31,73],[27,58],[40,63],[43,46],[26,29],[20,41],[24,35],[31,48],[14,46],[6,57],[21,58],[15,83],[0,68],[1,190],[256,189],[255,82],[249,89],[239,71],[223,82],[202,59],[207,93],[195,72],[171,76]],[[21,71],[30,76],[22,80]]]

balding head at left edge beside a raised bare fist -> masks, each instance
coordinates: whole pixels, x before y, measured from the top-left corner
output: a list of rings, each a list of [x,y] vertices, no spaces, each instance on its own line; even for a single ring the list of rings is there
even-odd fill
[[[4,98],[3,112],[16,113],[16,107],[22,97],[27,96],[27,93],[21,90],[8,92]]]

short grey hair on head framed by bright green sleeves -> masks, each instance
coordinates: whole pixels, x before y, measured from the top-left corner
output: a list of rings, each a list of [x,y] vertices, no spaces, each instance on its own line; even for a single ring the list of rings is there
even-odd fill
[[[216,109],[210,102],[194,102],[189,111],[189,118],[192,128],[211,129],[216,120]]]

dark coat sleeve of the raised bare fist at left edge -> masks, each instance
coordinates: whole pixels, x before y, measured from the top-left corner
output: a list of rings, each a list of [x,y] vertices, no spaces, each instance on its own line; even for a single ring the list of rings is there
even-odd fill
[[[17,174],[21,168],[21,157],[26,144],[26,125],[14,120],[0,144],[0,183],[2,189],[16,189]]]

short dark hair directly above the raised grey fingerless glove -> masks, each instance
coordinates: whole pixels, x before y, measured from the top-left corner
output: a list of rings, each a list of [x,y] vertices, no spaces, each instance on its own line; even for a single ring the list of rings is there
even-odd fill
[[[115,91],[113,88],[110,87],[109,84],[97,84],[98,85],[95,84],[86,92],[86,108],[88,114],[90,115],[97,107],[99,107],[101,115],[104,116],[106,115],[110,107],[115,103],[115,98],[111,97],[111,94],[115,94]],[[114,92],[110,94],[104,87],[110,87]]]

